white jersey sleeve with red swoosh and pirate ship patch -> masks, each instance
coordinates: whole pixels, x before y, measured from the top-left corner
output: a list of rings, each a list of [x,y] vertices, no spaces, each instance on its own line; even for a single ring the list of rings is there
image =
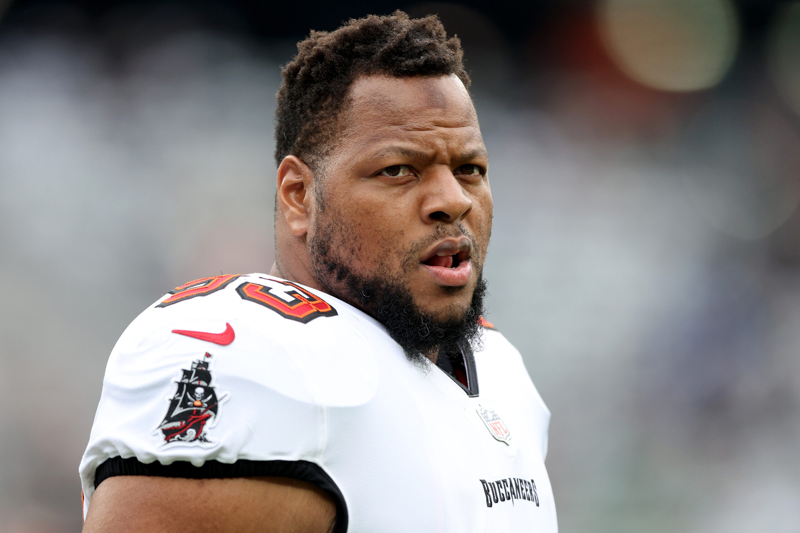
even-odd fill
[[[282,326],[246,316],[233,287],[170,307],[157,302],[135,319],[111,352],[80,465],[84,516],[114,458],[129,469],[123,474],[176,462],[221,472],[239,461],[321,463],[325,407]]]

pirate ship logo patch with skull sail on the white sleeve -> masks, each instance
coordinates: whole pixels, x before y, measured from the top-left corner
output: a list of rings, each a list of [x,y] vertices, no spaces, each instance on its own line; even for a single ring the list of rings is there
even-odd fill
[[[228,399],[228,393],[218,394],[209,368],[211,354],[192,363],[190,369],[183,368],[178,388],[168,400],[170,407],[156,432],[164,438],[164,445],[192,443],[212,446],[216,444],[208,437],[208,430],[217,425],[219,405]]]

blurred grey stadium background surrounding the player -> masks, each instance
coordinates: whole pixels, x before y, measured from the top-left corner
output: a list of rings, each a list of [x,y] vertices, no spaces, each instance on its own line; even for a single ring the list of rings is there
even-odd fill
[[[294,43],[397,8],[466,47],[562,533],[800,531],[800,2],[0,5],[3,533],[80,531],[131,319],[269,271]]]

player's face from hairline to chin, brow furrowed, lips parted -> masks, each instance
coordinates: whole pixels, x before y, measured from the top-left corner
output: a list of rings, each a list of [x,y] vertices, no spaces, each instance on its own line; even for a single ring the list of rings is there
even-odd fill
[[[462,82],[363,76],[340,125],[311,209],[320,282],[353,303],[335,262],[403,287],[432,319],[462,319],[492,220],[486,148]]]

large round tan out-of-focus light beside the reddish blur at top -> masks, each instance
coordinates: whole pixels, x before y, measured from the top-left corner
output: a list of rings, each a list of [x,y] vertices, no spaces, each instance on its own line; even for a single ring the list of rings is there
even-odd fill
[[[729,0],[601,0],[598,24],[620,69],[658,90],[716,85],[738,45]]]

